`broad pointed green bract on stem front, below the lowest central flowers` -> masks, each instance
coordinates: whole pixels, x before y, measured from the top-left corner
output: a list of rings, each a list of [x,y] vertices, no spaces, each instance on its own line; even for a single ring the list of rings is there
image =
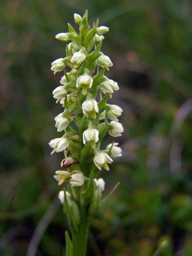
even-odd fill
[[[94,175],[91,172],[89,183],[85,184],[81,189],[81,203],[88,204],[94,195]]]

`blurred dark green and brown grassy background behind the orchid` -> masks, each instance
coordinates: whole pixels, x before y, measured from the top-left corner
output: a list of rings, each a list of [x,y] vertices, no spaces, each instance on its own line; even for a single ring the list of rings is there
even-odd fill
[[[90,256],[192,255],[192,2],[190,0],[1,0],[0,255],[64,255],[68,229],[50,156],[61,112],[52,90],[65,56],[54,38],[88,9],[110,28],[102,52],[120,87],[123,156],[102,170],[104,194],[91,224]],[[106,138],[103,148],[112,142]],[[163,241],[166,241],[162,244]]]

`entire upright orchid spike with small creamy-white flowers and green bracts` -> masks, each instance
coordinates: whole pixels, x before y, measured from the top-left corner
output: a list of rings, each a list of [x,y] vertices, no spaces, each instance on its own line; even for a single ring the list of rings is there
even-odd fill
[[[66,170],[56,171],[54,178],[58,185],[66,183],[68,188],[68,191],[59,192],[59,199],[64,205],[76,246],[66,255],[84,256],[86,242],[82,240],[82,234],[88,232],[86,225],[103,202],[105,182],[96,177],[102,168],[109,170],[112,158],[122,156],[118,143],[113,142],[102,150],[102,139],[107,133],[112,137],[121,136],[123,126],[118,122],[122,109],[106,103],[114,90],[119,89],[116,82],[104,76],[104,72],[113,66],[110,58],[100,51],[103,35],[109,28],[98,27],[97,20],[90,29],[87,11],[83,17],[74,14],[74,20],[80,26],[79,34],[68,24],[68,33],[56,35],[56,39],[68,42],[66,57],[56,59],[51,67],[54,74],[64,70],[61,85],[53,90],[56,103],[60,102],[64,110],[55,117],[55,127],[61,135],[49,145],[53,148],[52,154],[64,152],[65,156],[61,167]],[[71,69],[68,72],[65,70],[67,66]],[[66,240],[70,243],[68,233]],[[70,244],[69,247],[73,246]]]

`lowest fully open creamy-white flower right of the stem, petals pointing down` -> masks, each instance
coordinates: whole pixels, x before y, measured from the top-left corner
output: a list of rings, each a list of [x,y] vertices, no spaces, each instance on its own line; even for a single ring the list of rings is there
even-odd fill
[[[109,170],[108,163],[111,164],[113,160],[110,158],[110,156],[106,152],[97,151],[94,156],[94,164],[96,167],[101,170],[102,167],[104,167],[105,170]]]

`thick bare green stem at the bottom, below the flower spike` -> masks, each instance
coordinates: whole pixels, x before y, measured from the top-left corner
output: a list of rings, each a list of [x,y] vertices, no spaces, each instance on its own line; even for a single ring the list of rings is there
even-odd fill
[[[82,206],[78,231],[72,232],[73,256],[86,256],[89,224],[87,206]]]

